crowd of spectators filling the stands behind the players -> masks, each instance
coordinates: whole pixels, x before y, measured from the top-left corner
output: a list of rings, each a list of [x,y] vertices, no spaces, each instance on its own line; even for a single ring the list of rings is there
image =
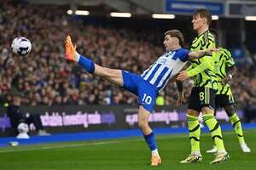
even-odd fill
[[[137,97],[110,82],[91,77],[79,65],[64,59],[64,39],[73,37],[79,53],[97,64],[138,74],[164,53],[163,33],[115,26],[85,25],[61,7],[14,4],[3,1],[0,10],[0,95],[9,101],[12,90],[22,96],[23,105],[119,105],[137,104]],[[190,23],[189,23],[190,24]],[[32,42],[32,52],[20,57],[11,52],[10,43],[23,36]],[[161,38],[161,39],[159,39]],[[238,68],[231,82],[236,102],[256,105],[255,71],[250,65]],[[183,83],[188,99],[192,81]],[[175,84],[161,93],[165,105],[177,100]]]

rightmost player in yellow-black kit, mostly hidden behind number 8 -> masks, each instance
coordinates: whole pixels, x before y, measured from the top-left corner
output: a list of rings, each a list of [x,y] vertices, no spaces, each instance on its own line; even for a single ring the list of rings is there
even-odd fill
[[[215,36],[216,42],[218,42],[217,32],[212,30],[212,33]],[[225,48],[218,48],[218,52],[213,53],[212,56],[215,60],[215,72],[218,80],[218,91],[215,98],[216,108],[223,107],[227,115],[230,117],[230,122],[238,138],[241,150],[245,153],[251,152],[243,137],[241,121],[235,111],[234,98],[229,84],[230,80],[236,73],[235,61],[232,58],[230,51]],[[217,152],[215,145],[212,150],[207,150],[207,153],[215,152]]]

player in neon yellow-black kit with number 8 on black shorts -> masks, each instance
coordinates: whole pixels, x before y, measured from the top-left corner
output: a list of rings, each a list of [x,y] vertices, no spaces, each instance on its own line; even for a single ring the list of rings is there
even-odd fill
[[[209,31],[211,21],[212,15],[207,9],[199,8],[195,11],[192,23],[198,36],[192,42],[191,51],[215,48],[214,36]],[[194,77],[194,87],[189,97],[189,110],[187,112],[191,153],[180,163],[193,163],[202,160],[200,150],[201,128],[198,120],[200,112],[202,112],[203,121],[207,124],[218,150],[216,157],[210,164],[227,160],[229,155],[224,148],[221,128],[214,116],[217,77],[214,72],[212,54],[192,60],[189,68],[179,73],[177,80],[183,81],[189,77]]]

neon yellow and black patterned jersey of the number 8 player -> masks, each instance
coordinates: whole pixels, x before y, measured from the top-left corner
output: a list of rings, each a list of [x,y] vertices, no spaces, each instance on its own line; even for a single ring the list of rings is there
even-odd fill
[[[215,48],[215,38],[210,31],[205,31],[203,34],[195,37],[192,42],[190,51],[199,51],[207,48]],[[207,69],[201,71],[194,77],[195,87],[207,87],[217,89],[217,80],[214,72],[214,59],[212,55],[205,55],[200,59],[193,59],[189,69],[193,69],[196,66],[205,65],[207,63]]]

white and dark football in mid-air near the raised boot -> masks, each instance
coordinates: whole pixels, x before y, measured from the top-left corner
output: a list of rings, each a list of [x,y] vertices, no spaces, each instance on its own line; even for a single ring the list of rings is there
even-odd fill
[[[26,37],[16,37],[12,42],[11,48],[15,54],[26,55],[30,53],[32,44]]]

